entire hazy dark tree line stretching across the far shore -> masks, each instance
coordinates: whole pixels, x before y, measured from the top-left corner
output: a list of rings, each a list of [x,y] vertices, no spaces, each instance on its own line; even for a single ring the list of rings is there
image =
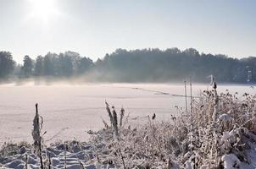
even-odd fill
[[[192,77],[208,81],[213,74],[219,82],[247,83],[256,81],[256,57],[242,59],[199,53],[189,48],[166,50],[117,49],[93,62],[77,52],[52,53],[32,59],[25,56],[22,64],[14,62],[10,52],[0,52],[0,79],[36,77],[86,77],[87,81],[169,82]]]

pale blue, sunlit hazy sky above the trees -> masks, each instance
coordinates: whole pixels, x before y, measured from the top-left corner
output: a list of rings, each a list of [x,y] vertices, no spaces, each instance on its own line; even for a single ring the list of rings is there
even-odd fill
[[[117,48],[256,57],[254,0],[0,0],[0,51],[92,60]]]

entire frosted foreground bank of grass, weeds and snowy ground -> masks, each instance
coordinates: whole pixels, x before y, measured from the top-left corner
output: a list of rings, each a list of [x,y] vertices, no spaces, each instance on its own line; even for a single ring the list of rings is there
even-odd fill
[[[89,142],[42,146],[45,167],[53,168],[256,168],[256,96],[227,90],[203,91],[192,110],[147,123],[129,123],[128,115],[106,104],[105,128],[90,132]],[[47,122],[45,122],[47,123]],[[0,167],[38,168],[30,144],[5,144]]]

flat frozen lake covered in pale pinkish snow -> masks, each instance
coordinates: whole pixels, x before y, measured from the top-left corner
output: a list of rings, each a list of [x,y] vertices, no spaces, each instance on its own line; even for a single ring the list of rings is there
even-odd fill
[[[193,85],[192,95],[208,88],[211,89],[209,85]],[[249,85],[218,86],[219,91],[225,89],[256,94]],[[184,85],[172,84],[0,85],[0,144],[8,140],[31,141],[36,102],[44,119],[47,143],[86,139],[86,130],[102,128],[102,118],[109,121],[105,100],[117,112],[123,106],[125,114],[130,112],[136,119],[153,113],[158,119],[169,119],[171,113],[176,113],[175,106],[185,106],[184,97],[161,95],[153,90],[184,95]]]

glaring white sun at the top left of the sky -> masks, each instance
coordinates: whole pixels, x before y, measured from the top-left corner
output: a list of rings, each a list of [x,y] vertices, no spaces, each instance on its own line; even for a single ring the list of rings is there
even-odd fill
[[[58,15],[58,9],[55,0],[30,0],[31,3],[31,18],[42,19],[48,22],[48,19]]]

